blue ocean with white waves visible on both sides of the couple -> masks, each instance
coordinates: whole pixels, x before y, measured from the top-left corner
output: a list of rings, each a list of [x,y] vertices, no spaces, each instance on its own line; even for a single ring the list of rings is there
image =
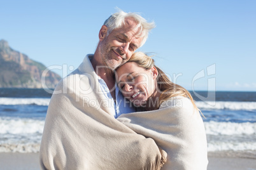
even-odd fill
[[[190,92],[203,113],[208,152],[256,159],[256,92]],[[0,88],[0,152],[39,152],[51,94]]]

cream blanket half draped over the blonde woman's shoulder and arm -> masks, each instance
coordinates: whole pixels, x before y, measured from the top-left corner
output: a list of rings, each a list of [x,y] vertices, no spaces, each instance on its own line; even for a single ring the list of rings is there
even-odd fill
[[[153,138],[167,152],[167,162],[161,169],[207,169],[203,120],[188,98],[171,98],[159,110],[122,114],[118,121]]]

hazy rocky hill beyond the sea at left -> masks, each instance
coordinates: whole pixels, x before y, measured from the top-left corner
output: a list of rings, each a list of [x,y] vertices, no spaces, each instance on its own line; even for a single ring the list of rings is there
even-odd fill
[[[42,88],[41,75],[46,69],[42,63],[10,48],[7,41],[0,41],[0,88]],[[55,88],[60,75],[47,72],[47,88]]]

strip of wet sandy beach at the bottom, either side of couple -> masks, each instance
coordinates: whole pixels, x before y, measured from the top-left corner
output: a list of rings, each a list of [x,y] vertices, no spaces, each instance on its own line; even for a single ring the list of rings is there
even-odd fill
[[[256,160],[239,157],[209,156],[208,170],[256,170]],[[40,169],[39,154],[0,153],[1,169]]]

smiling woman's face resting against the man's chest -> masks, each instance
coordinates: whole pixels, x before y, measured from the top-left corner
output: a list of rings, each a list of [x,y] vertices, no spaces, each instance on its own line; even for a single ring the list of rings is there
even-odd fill
[[[155,91],[157,70],[145,70],[135,62],[128,62],[117,69],[116,81],[122,94],[136,107],[143,107]]]

